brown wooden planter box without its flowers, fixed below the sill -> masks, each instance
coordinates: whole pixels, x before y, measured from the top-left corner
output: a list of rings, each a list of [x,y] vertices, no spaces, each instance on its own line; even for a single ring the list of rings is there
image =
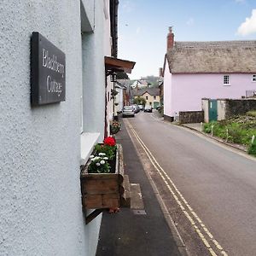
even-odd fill
[[[117,144],[114,173],[88,173],[90,160],[82,166],[80,175],[83,209],[120,207],[124,194],[123,149]]]

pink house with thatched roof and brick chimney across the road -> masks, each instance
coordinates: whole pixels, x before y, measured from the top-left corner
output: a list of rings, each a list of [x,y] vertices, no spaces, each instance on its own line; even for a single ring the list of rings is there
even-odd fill
[[[164,117],[201,111],[201,99],[241,99],[256,91],[256,41],[175,42],[167,36]]]

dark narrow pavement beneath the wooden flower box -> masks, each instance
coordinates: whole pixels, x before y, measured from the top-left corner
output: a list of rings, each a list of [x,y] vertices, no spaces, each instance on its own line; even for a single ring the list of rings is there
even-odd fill
[[[96,256],[184,255],[177,245],[177,234],[172,233],[166,222],[125,125],[121,127],[116,139],[123,146],[125,174],[129,175],[130,183],[139,184],[143,209],[103,212]]]

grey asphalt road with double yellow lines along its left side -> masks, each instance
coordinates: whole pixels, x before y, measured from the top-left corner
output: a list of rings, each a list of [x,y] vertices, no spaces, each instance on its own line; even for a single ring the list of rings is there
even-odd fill
[[[256,255],[256,161],[154,113],[125,124],[158,166],[150,173],[189,254]]]

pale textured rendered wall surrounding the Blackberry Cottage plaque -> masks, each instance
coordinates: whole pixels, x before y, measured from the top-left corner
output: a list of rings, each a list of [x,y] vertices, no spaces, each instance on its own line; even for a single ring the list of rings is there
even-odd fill
[[[102,1],[83,2],[96,22],[86,46],[88,61],[95,61],[87,66],[91,90],[85,93],[96,116],[84,115],[84,128],[102,137]],[[79,181],[80,1],[3,0],[0,21],[0,255],[94,255],[101,218],[85,225]],[[66,54],[66,102],[31,107],[33,31]]]

